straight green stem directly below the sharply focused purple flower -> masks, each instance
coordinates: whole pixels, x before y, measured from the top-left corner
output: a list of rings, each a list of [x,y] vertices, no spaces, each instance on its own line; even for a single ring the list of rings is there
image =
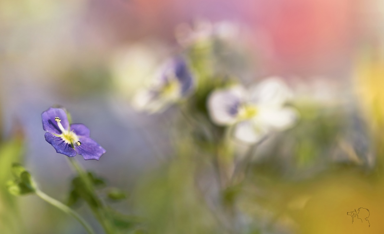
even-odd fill
[[[68,160],[71,162],[70,165],[73,167],[74,171],[76,171],[83,181],[84,185],[86,186],[89,195],[91,195],[98,204],[100,204],[99,207],[94,207],[89,204],[89,207],[91,208],[93,214],[95,215],[96,219],[100,222],[101,226],[103,226],[104,231],[107,234],[117,234],[118,231],[114,229],[111,219],[108,216],[108,212],[106,211],[106,208],[103,204],[103,202],[99,199],[99,197],[96,195],[96,192],[94,190],[94,186],[92,181],[89,180],[89,177],[86,173],[86,171],[81,167],[81,165],[76,161],[74,158],[68,158]]]

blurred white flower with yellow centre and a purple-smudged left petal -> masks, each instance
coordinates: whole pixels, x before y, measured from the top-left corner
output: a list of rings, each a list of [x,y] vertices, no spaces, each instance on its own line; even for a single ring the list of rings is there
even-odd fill
[[[234,136],[247,143],[261,140],[268,132],[290,128],[298,112],[284,104],[292,97],[278,77],[270,77],[246,90],[240,85],[218,89],[208,99],[212,121],[234,125]]]

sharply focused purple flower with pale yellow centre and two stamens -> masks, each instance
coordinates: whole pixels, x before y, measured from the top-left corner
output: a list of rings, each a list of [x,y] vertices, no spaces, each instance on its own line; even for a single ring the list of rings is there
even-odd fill
[[[70,124],[65,110],[50,107],[41,114],[45,140],[56,152],[74,157],[83,155],[85,160],[99,160],[106,151],[89,137],[89,129],[84,124]]]

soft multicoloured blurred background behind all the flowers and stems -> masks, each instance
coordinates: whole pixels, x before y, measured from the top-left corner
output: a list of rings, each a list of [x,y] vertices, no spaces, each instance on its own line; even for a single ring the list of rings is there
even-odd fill
[[[142,217],[143,233],[349,233],[339,213],[359,206],[373,211],[369,233],[383,233],[383,12],[363,0],[0,0],[0,233],[85,233],[37,196],[5,189],[19,162],[67,201],[75,173],[41,123],[53,105],[106,149],[99,161],[76,158],[126,191],[111,207]],[[137,91],[176,55],[195,93],[137,111]],[[227,129],[210,122],[210,92],[275,75],[293,90],[297,125],[255,152],[217,140]],[[247,152],[242,189],[219,191]],[[85,204],[74,209],[103,233]]]

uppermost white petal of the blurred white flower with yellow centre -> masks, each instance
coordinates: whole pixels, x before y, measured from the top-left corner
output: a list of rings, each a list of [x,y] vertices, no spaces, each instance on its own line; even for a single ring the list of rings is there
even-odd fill
[[[270,77],[250,89],[250,101],[258,105],[281,106],[292,92],[279,77]]]

